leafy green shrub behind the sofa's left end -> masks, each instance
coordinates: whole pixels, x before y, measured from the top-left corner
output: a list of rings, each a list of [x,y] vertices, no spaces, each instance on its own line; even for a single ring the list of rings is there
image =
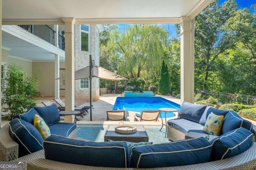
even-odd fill
[[[7,113],[8,119],[36,105],[39,74],[38,71],[34,76],[28,77],[20,66],[7,66],[2,92],[2,111]]]

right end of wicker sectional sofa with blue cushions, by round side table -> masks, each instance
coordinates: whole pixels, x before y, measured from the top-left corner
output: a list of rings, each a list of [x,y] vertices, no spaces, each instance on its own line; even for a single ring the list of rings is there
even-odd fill
[[[199,136],[200,134],[201,136],[209,135],[203,128],[210,113],[224,117],[220,132],[217,136],[240,127],[244,127],[254,134],[256,133],[255,126],[252,125],[250,121],[240,117],[234,111],[220,110],[207,105],[183,102],[180,107],[178,118],[167,121],[166,128],[168,139],[171,141],[186,139],[186,135],[190,132],[194,132]],[[212,136],[211,139],[214,137],[216,136]]]

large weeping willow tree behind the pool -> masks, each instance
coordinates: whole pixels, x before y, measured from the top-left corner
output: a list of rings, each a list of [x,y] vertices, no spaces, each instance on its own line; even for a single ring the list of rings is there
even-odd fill
[[[160,25],[135,24],[110,34],[108,51],[118,63],[118,74],[145,78],[161,67],[166,55],[168,31]],[[168,52],[167,52],[168,53]]]

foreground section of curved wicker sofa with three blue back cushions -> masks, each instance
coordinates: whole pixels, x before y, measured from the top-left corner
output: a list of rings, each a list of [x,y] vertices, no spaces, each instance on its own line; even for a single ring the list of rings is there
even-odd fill
[[[256,143],[241,127],[207,141],[204,137],[132,147],[125,141],[90,142],[51,135],[39,150],[13,161],[28,162],[28,169],[156,170],[255,169]],[[130,154],[130,158],[129,155]]]

